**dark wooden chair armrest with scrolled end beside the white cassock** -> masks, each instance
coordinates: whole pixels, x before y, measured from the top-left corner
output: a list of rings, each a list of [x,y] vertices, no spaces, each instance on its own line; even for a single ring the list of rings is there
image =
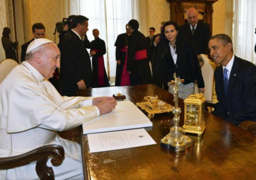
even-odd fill
[[[59,166],[64,159],[64,149],[60,145],[46,145],[20,154],[19,156],[0,158],[0,170],[18,168],[36,161],[36,174],[40,179],[54,180],[53,169],[47,166],[48,158],[52,157],[52,165]]]

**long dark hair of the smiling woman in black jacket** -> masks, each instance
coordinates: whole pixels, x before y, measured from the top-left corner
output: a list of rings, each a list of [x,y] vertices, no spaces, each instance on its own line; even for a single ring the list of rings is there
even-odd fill
[[[162,28],[162,31],[161,31],[161,39],[160,39],[160,45],[162,46],[163,48],[163,55],[164,56],[168,56],[168,52],[170,52],[170,47],[169,47],[169,40],[166,39],[166,35],[164,35],[164,28],[166,26],[174,26],[175,27],[175,30],[178,31],[179,30],[179,26],[177,25],[177,23],[173,22],[173,21],[167,21],[166,23],[163,24],[163,28]],[[168,49],[167,49],[168,48]]]

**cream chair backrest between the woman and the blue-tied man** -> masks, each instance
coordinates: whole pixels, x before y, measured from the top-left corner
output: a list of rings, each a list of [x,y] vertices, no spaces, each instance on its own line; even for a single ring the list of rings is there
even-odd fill
[[[206,55],[201,54],[201,57],[204,60],[204,65],[201,67],[203,78],[204,78],[204,86],[205,92],[204,97],[206,101],[212,102],[212,94],[213,94],[213,79],[214,79],[214,70],[216,69],[216,65],[214,62],[209,60]],[[198,93],[197,88],[195,88],[195,93]]]

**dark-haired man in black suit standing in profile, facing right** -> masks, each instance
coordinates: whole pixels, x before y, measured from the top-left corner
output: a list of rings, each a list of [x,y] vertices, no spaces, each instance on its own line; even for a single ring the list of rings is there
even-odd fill
[[[88,31],[88,20],[82,15],[75,16],[72,19],[71,31],[67,33],[61,44],[60,87],[62,95],[74,96],[76,90],[91,87],[92,65],[89,53],[82,41],[82,37]]]

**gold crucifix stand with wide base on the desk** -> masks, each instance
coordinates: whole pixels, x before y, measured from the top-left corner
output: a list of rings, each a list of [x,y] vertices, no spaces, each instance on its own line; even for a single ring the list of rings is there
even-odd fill
[[[172,82],[174,84],[174,101],[175,107],[172,109],[174,113],[174,126],[170,128],[170,133],[166,135],[162,140],[160,145],[162,148],[168,148],[174,150],[176,152],[183,151],[192,146],[192,140],[188,136],[183,135],[183,128],[179,127],[181,109],[179,108],[179,85],[180,78],[176,77],[176,73],[174,73],[175,81]]]

